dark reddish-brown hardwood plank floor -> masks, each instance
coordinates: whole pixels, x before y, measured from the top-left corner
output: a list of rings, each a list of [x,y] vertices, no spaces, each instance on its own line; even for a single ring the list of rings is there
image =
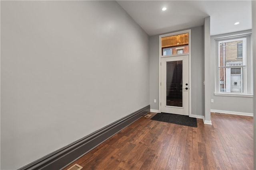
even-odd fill
[[[197,119],[198,127],[151,117],[138,119],[65,170],[76,163],[83,170],[253,169],[253,117],[212,113],[212,125]]]

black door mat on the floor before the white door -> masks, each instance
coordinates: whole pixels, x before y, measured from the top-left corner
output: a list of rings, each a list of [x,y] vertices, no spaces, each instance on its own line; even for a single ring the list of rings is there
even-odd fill
[[[185,125],[191,127],[197,127],[197,121],[194,117],[188,117],[184,115],[176,115],[170,113],[157,113],[151,120],[164,121],[168,123],[174,123],[178,125]]]

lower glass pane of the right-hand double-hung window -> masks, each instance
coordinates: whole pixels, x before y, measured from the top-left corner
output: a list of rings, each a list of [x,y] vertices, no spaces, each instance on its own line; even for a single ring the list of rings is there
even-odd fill
[[[219,68],[220,92],[243,92],[243,67]]]

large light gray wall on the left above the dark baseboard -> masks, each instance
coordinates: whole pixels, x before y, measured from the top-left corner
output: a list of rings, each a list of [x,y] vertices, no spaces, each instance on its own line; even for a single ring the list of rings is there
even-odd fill
[[[1,1],[1,169],[147,106],[148,41],[115,1]]]

